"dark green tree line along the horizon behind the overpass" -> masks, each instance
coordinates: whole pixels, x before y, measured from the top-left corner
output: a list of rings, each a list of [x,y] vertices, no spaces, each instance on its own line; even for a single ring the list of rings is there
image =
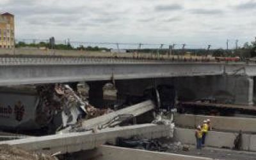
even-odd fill
[[[47,42],[39,42],[38,44],[26,44],[25,42],[18,42],[15,44],[15,47],[45,47],[49,49],[63,49],[63,50],[80,50],[80,51],[110,51],[110,49],[105,47],[92,47],[83,45],[79,45],[78,47],[72,46],[70,43],[67,44],[54,44],[53,46]],[[236,57],[240,58],[252,58],[256,57],[256,42],[248,43],[246,42],[243,47],[239,47],[237,49],[175,49],[170,52],[168,49],[127,49],[127,52],[144,52],[151,54],[174,54],[174,55],[183,55],[183,54],[191,54],[196,56],[205,56],[212,55],[215,57]]]

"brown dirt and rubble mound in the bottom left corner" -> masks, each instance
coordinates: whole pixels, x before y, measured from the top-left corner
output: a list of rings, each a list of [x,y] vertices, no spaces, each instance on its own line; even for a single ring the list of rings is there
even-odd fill
[[[28,152],[10,145],[0,145],[0,160],[58,160],[42,153]]]

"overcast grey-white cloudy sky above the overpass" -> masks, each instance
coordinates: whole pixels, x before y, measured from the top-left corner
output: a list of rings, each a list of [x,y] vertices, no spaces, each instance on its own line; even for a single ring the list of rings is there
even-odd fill
[[[239,45],[256,36],[256,0],[0,0],[16,38]]]

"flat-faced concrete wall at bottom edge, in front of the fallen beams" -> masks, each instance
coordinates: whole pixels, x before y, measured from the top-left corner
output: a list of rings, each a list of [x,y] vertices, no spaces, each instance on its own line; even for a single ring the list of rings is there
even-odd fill
[[[95,160],[210,160],[206,157],[185,156],[180,154],[170,154],[164,152],[152,152],[148,150],[136,150],[132,148],[112,147],[101,145],[95,150],[86,151],[79,154],[76,159]]]

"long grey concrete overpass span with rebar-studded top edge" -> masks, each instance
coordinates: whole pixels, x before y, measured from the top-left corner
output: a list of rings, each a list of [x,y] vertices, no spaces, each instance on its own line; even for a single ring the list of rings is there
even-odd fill
[[[0,86],[157,77],[256,76],[246,63],[172,62],[124,58],[0,58]]]

